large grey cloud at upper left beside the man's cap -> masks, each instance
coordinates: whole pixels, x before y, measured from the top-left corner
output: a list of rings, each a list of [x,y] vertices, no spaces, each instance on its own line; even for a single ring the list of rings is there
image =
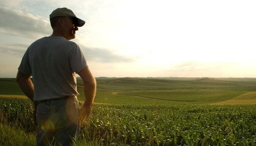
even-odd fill
[[[0,7],[0,32],[4,34],[33,37],[52,32],[50,22],[41,16],[15,9]]]

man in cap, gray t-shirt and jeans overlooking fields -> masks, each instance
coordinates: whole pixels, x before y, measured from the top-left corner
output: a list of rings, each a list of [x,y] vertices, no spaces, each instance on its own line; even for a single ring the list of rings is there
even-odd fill
[[[85,21],[68,8],[50,14],[52,35],[38,39],[26,50],[16,81],[35,102],[37,145],[72,145],[78,138],[80,122],[90,116],[96,93],[96,81],[82,50],[74,39]],[[76,73],[83,80],[85,102],[76,98]],[[30,77],[33,77],[33,82]]]

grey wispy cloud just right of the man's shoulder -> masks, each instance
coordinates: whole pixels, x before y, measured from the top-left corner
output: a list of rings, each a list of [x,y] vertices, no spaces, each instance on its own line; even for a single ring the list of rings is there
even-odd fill
[[[102,62],[102,63],[112,63],[112,62],[133,62],[136,58],[127,57],[124,55],[118,55],[112,50],[103,48],[89,48],[84,45],[79,45],[81,49],[84,50],[84,55],[87,60],[91,62]]]

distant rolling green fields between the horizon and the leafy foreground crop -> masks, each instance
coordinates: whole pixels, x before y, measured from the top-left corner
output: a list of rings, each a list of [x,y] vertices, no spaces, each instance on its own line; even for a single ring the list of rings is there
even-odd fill
[[[78,99],[83,101],[83,82],[78,78],[77,83],[80,93]],[[211,104],[254,91],[256,78],[100,77],[97,78],[95,102],[149,105]],[[0,78],[0,94],[24,95],[14,78]]]

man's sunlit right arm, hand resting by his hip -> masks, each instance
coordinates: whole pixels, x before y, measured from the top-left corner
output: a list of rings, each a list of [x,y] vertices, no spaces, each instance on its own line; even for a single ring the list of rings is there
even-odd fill
[[[83,90],[85,96],[84,105],[79,111],[80,120],[83,121],[84,118],[86,118],[86,120],[89,119],[91,113],[94,97],[96,95],[96,80],[88,67],[82,69],[78,74],[83,80]]]

